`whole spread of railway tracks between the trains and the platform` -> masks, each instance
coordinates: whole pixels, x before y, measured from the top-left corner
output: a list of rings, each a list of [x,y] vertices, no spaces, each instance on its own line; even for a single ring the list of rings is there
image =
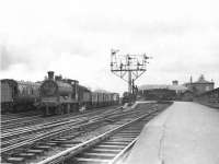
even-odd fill
[[[112,106],[46,118],[2,115],[1,163],[117,161],[132,145],[143,125],[168,106]]]

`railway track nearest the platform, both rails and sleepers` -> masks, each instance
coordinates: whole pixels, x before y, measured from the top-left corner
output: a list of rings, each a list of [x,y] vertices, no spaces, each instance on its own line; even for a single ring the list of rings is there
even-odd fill
[[[48,157],[38,164],[115,164],[123,161],[129,149],[135,144],[141,129],[151,118],[158,115],[158,110],[123,122],[118,127],[93,139],[70,148],[61,153]]]

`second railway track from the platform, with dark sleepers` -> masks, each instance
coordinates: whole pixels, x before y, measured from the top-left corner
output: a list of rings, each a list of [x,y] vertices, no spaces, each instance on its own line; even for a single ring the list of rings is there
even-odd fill
[[[150,114],[149,114],[150,112]],[[111,125],[111,128],[104,127],[104,131],[99,131],[99,133],[93,136],[99,136],[100,133],[105,133],[106,131],[112,131],[112,128],[125,125],[137,117],[141,117],[142,115],[150,118],[152,113],[158,113],[154,108],[150,108],[150,110],[135,109],[132,112],[127,110],[120,114],[115,113],[115,115],[108,115],[107,117],[102,117],[102,119],[92,119],[89,122],[78,125],[78,127],[71,127],[69,129],[62,129],[62,132],[57,131],[55,138],[50,138],[49,133],[45,138],[42,139],[30,139],[30,147],[19,151],[3,155],[2,162],[8,163],[41,163],[44,159],[50,159],[48,156],[56,156],[56,154],[60,154],[61,152],[68,151],[72,148],[78,148],[79,145],[84,147],[87,143],[87,139],[82,140],[83,136],[95,131],[100,127],[104,127]],[[101,126],[100,126],[101,125]],[[91,138],[91,137],[90,137]],[[90,144],[90,143],[88,143]],[[60,152],[60,153],[59,153]],[[36,157],[39,156],[39,157]],[[35,159],[35,160],[33,160]],[[59,157],[58,157],[59,159]],[[50,163],[50,162],[49,162]]]

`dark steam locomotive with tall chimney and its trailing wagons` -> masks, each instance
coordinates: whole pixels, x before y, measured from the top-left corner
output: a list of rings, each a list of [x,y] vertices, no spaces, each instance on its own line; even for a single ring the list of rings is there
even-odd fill
[[[118,104],[117,93],[91,92],[88,87],[71,79],[54,78],[54,72],[48,72],[39,89],[41,108],[44,115],[65,114],[79,109],[103,107]]]

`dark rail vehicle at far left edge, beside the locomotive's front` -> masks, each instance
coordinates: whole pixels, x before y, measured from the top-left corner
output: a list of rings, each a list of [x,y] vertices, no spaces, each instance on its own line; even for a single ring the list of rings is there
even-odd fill
[[[35,108],[39,98],[41,83],[1,80],[1,113]]]

